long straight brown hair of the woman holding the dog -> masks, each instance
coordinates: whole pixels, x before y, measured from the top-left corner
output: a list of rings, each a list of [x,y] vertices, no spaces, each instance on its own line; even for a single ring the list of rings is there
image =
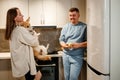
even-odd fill
[[[7,11],[6,16],[6,31],[5,31],[5,39],[10,40],[11,33],[13,29],[16,27],[15,17],[17,16],[17,7],[11,8]]]

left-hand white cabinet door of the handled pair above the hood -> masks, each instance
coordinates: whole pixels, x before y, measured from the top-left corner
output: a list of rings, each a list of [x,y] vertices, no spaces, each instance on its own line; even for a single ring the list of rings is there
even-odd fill
[[[31,26],[40,25],[42,22],[42,0],[29,0],[29,16]]]

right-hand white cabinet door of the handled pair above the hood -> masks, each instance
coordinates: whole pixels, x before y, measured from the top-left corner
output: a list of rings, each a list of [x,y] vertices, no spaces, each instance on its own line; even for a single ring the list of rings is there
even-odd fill
[[[43,0],[44,23],[46,25],[56,25],[56,0]]]

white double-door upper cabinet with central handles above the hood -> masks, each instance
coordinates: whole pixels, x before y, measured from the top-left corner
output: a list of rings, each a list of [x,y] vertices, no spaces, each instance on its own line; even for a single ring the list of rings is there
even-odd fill
[[[56,25],[56,0],[29,0],[31,25]]]

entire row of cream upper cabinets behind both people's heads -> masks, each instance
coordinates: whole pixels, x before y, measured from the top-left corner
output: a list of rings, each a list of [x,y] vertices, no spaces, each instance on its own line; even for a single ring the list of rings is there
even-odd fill
[[[11,7],[20,8],[24,19],[30,17],[31,26],[56,25],[62,27],[68,20],[71,7],[80,9],[80,21],[85,22],[86,0],[0,0],[0,28],[5,27],[6,12]]]

